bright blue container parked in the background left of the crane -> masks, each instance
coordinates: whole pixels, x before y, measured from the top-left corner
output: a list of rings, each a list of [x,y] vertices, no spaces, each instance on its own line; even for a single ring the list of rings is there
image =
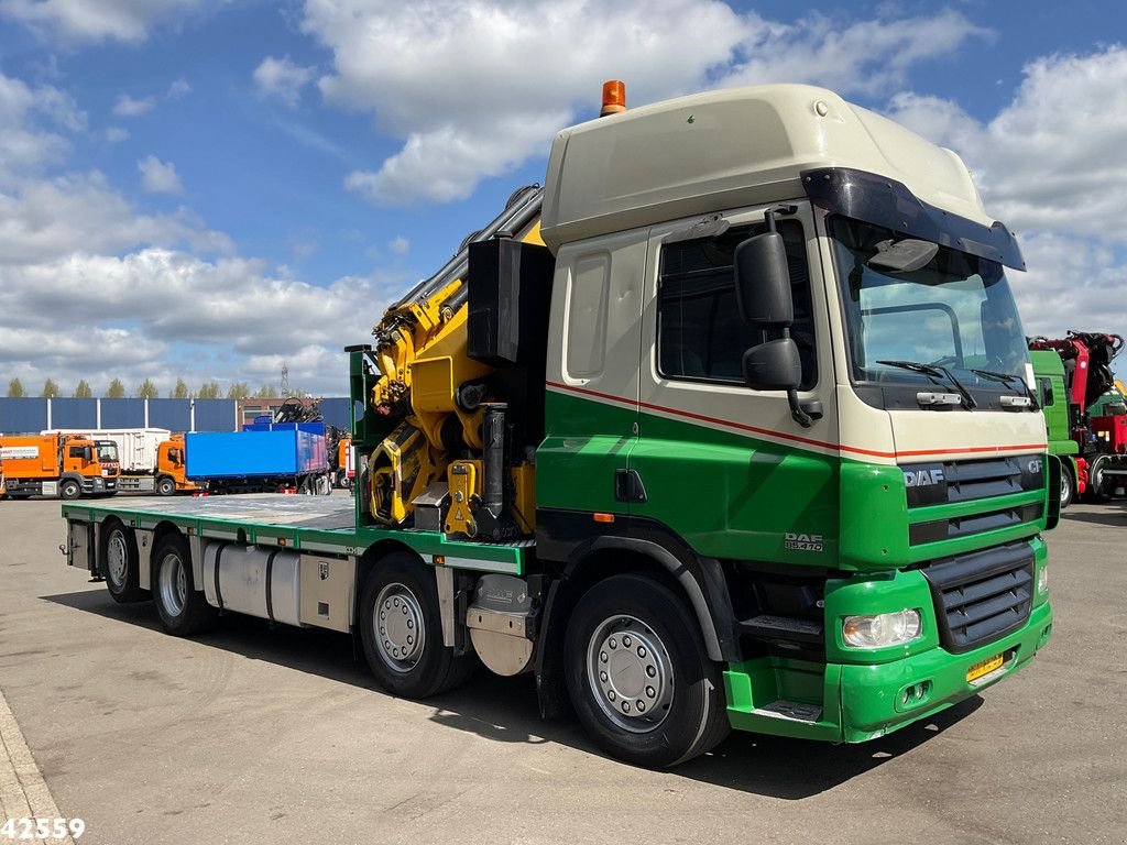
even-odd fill
[[[184,445],[189,479],[301,475],[328,469],[325,436],[311,432],[196,432]]]

